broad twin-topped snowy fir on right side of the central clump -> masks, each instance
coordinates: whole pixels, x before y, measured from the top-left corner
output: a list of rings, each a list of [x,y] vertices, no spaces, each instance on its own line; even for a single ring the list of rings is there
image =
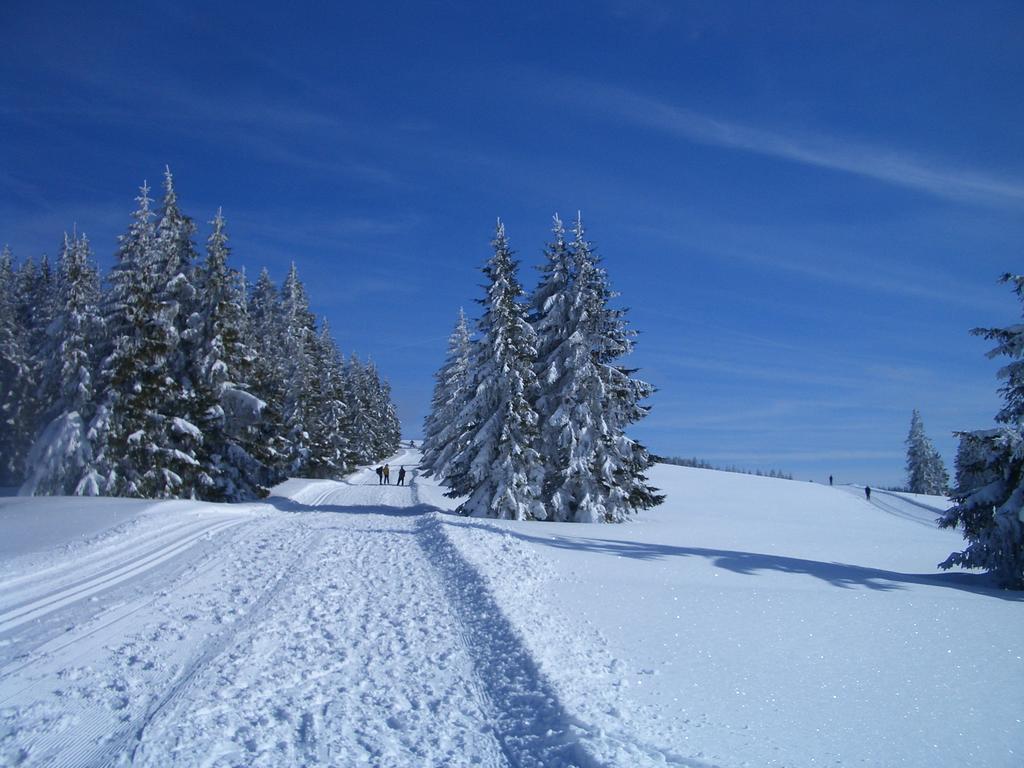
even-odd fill
[[[643,418],[652,388],[617,359],[632,351],[625,312],[578,217],[571,246],[556,218],[548,268],[535,299],[545,356],[538,413],[550,519],[621,522],[663,497],[646,483],[651,460],[625,430]]]

